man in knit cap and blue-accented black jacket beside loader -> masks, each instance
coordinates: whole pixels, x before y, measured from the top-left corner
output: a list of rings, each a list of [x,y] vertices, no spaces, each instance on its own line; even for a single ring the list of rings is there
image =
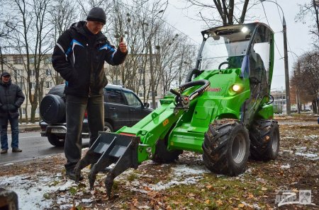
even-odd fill
[[[123,38],[118,49],[101,33],[106,23],[102,8],[94,7],[85,21],[72,24],[57,40],[52,65],[66,81],[67,134],[66,174],[74,180],[74,167],[81,158],[82,120],[88,115],[90,146],[104,128],[103,88],[107,84],[104,62],[122,64],[128,50]],[[82,178],[82,177],[81,177]]]

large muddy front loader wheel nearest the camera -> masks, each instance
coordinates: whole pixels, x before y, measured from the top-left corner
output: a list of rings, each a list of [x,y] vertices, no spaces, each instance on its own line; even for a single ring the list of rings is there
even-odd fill
[[[203,162],[214,173],[235,176],[246,169],[250,153],[247,129],[235,119],[213,122],[203,142]]]

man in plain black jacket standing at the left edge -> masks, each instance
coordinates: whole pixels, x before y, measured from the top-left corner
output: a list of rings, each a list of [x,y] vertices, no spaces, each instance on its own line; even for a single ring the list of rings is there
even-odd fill
[[[21,152],[18,147],[18,108],[24,101],[21,88],[11,83],[11,76],[8,72],[1,74],[0,81],[0,131],[1,131],[1,154],[7,153],[8,146],[8,121],[11,126],[11,148],[13,152]]]

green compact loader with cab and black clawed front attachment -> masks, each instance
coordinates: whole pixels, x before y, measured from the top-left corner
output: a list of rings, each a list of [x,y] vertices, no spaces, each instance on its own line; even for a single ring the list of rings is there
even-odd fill
[[[203,30],[195,69],[186,83],[171,89],[160,107],[133,127],[100,132],[84,158],[96,174],[108,173],[108,197],[115,177],[142,161],[170,163],[185,151],[203,154],[213,173],[243,173],[248,156],[274,160],[279,153],[279,127],[270,95],[274,66],[274,32],[264,23],[227,25]]]

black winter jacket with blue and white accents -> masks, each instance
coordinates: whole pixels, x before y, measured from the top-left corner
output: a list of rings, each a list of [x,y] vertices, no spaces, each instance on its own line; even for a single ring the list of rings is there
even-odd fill
[[[93,35],[85,21],[73,23],[57,40],[52,65],[66,81],[65,94],[87,97],[103,94],[108,83],[104,62],[122,64],[126,53],[115,49],[100,32]]]

